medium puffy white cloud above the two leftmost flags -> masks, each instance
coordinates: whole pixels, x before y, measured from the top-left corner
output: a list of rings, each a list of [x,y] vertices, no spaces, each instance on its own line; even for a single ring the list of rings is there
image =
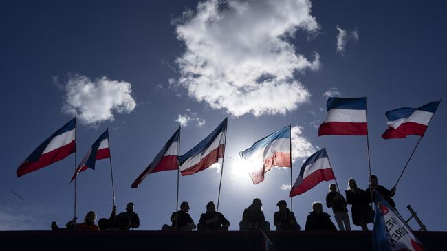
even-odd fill
[[[113,112],[130,113],[136,103],[131,84],[109,80],[106,76],[91,80],[87,76],[70,74],[65,85],[63,112],[78,113],[84,124],[98,124],[113,120]]]

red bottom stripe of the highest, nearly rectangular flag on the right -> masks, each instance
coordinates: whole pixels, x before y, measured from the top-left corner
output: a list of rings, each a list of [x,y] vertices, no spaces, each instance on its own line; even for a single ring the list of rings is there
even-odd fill
[[[321,135],[368,135],[367,123],[327,122],[320,124],[318,136]]]

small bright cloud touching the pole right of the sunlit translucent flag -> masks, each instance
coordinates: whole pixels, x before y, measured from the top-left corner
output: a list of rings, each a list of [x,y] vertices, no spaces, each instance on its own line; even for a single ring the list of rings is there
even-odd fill
[[[297,159],[305,159],[315,152],[315,147],[303,136],[303,127],[295,126],[292,133],[292,162]]]

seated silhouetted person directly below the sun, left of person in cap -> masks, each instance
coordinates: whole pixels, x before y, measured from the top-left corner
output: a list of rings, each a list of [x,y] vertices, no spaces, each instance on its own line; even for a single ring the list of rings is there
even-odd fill
[[[263,231],[270,231],[270,223],[265,221],[261,206],[261,199],[253,199],[253,204],[243,210],[242,221],[239,222],[239,230],[256,230],[260,228]]]

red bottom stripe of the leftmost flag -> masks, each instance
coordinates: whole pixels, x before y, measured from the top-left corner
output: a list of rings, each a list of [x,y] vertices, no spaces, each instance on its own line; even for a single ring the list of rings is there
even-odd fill
[[[48,166],[54,162],[63,160],[65,157],[74,152],[76,152],[76,142],[73,140],[71,143],[66,144],[65,146],[41,155],[37,162],[23,162],[19,166],[19,168],[17,168],[17,177],[21,177],[27,173],[39,170],[40,168]]]

